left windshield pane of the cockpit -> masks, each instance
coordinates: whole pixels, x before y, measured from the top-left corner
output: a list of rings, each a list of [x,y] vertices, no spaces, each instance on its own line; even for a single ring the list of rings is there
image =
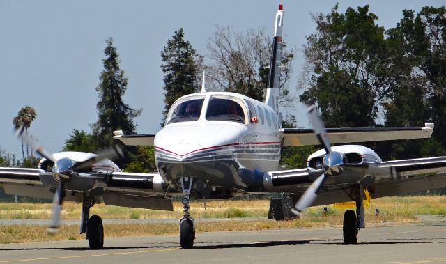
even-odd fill
[[[200,118],[204,96],[184,98],[171,107],[167,115],[167,124],[176,122],[197,121]]]

